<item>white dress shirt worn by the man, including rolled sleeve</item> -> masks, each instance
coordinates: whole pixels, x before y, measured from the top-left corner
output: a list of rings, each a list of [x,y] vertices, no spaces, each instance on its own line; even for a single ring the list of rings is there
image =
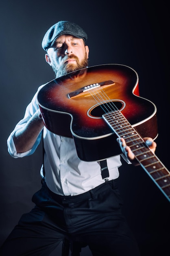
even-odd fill
[[[24,157],[35,152],[41,141],[39,134],[33,148],[24,153],[17,153],[13,142],[13,134],[23,127],[33,114],[39,109],[37,94],[44,85],[41,85],[31,103],[26,108],[24,118],[18,122],[7,139],[9,154],[14,157]],[[48,188],[59,195],[78,195],[102,184],[99,162],[85,162],[78,158],[74,139],[55,135],[44,127],[44,167],[45,180]],[[118,167],[121,166],[120,155],[107,159],[109,180],[118,178]],[[41,176],[42,176],[41,167]]]

